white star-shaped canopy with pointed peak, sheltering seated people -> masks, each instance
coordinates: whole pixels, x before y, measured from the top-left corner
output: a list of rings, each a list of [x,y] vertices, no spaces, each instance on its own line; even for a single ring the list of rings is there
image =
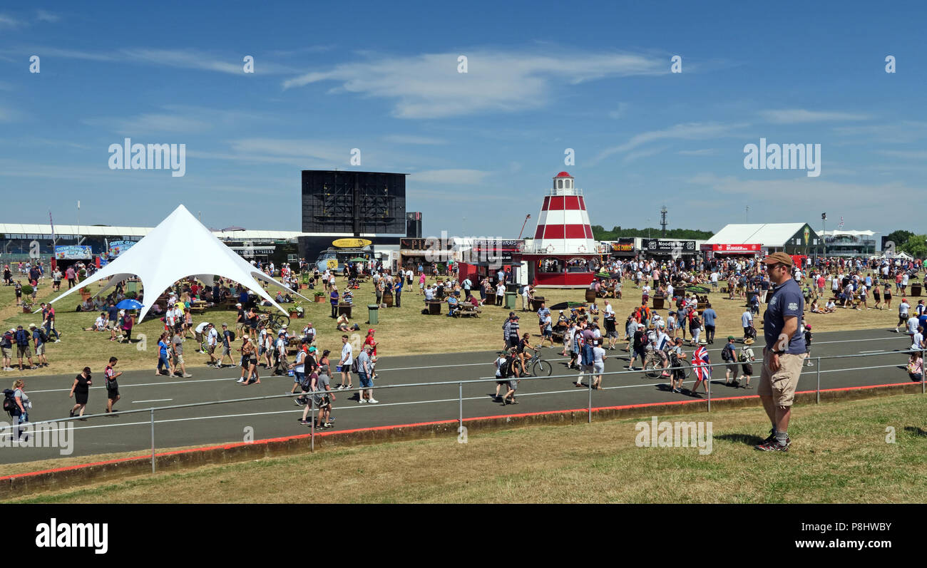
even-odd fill
[[[212,284],[212,276],[222,276],[242,284],[256,292],[260,297],[268,300],[276,309],[286,313],[273,297],[267,294],[255,277],[277,284],[289,290],[268,277],[248,261],[239,257],[235,252],[216,238],[210,230],[197,221],[190,211],[181,205],[174,209],[167,219],[161,221],[142,240],[132,248],[123,252],[119,258],[108,263],[104,268],[96,271],[93,276],[52,300],[59,299],[77,291],[80,287],[94,284],[99,280],[109,278],[109,284],[97,294],[106,292],[108,288],[131,276],[138,276],[145,288],[148,303],[139,314],[139,321],[145,319],[151,300],[160,295],[178,280],[194,276],[203,284]],[[293,292],[292,290],[289,290]],[[309,299],[296,292],[297,296]]]

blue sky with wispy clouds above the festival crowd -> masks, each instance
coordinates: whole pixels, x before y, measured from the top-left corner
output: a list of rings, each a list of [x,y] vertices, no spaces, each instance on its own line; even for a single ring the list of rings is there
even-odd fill
[[[749,206],[927,232],[919,3],[88,6],[0,6],[0,221],[75,222],[80,199],[82,223],[183,203],[208,226],[299,230],[299,170],[339,168],[412,174],[425,234],[512,238],[568,170],[606,228],[665,203],[670,227]],[[125,137],[185,144],[185,175],[110,170]],[[761,137],[821,145],[819,177],[745,170]]]

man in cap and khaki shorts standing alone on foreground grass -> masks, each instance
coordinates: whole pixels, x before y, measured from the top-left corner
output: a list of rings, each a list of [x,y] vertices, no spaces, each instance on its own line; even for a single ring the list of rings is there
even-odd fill
[[[763,315],[763,371],[759,396],[772,423],[771,435],[756,446],[764,451],[786,451],[792,440],[788,435],[795,387],[805,363],[805,336],[799,329],[805,310],[801,287],[792,278],[792,257],[784,252],[769,255],[769,280],[772,291]]]

